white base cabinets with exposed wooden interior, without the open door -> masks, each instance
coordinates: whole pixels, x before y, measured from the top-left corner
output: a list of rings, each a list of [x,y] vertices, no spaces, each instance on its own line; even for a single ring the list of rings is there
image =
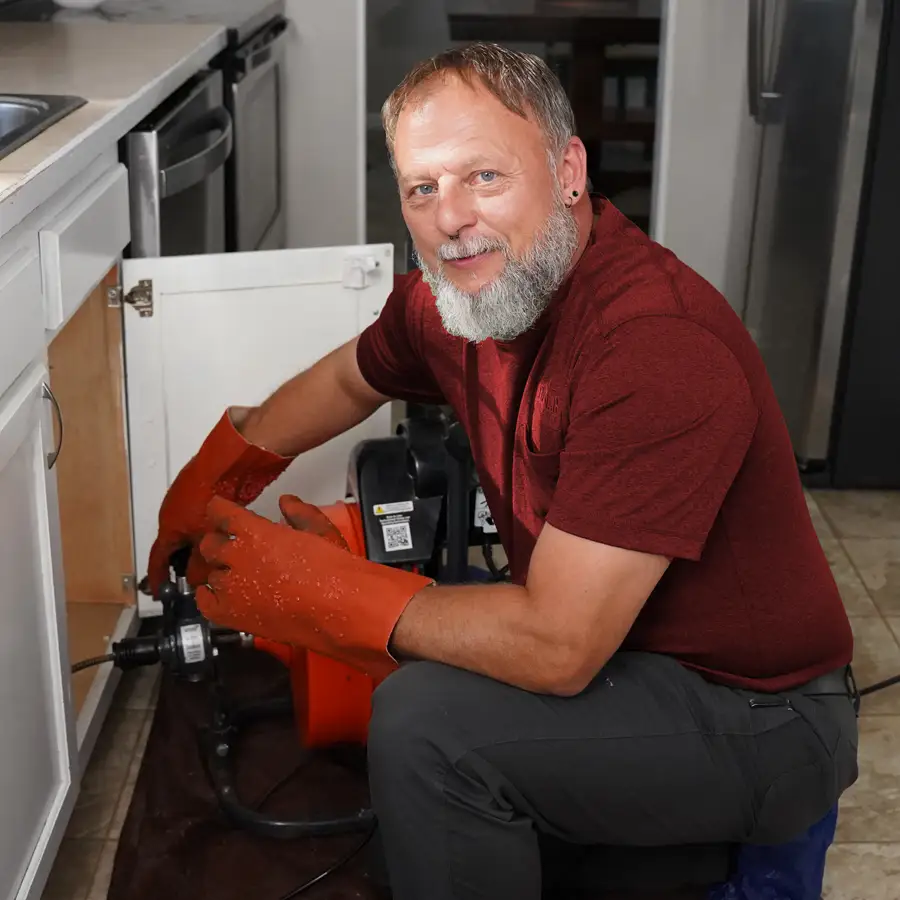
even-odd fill
[[[137,622],[120,310],[128,242],[103,154],[0,238],[0,900],[37,900]]]

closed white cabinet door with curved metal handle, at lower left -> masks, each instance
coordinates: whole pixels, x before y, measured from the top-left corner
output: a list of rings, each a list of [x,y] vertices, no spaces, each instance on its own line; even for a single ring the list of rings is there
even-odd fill
[[[42,365],[0,405],[0,898],[39,895],[75,766]],[[36,885],[36,890],[33,888]]]

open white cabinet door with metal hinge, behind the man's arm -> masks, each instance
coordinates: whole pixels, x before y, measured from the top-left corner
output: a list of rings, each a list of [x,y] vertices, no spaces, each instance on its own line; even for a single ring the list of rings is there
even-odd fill
[[[166,490],[226,407],[260,403],[374,321],[393,286],[393,253],[378,244],[124,261],[138,579]],[[300,457],[251,508],[277,519],[285,492],[317,504],[342,499],[351,449],[390,427],[385,406]],[[158,612],[141,595],[141,615]]]

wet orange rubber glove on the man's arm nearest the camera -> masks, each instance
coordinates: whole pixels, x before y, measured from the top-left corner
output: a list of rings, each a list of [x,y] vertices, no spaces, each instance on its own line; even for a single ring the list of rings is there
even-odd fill
[[[199,549],[210,566],[197,606],[211,622],[305,647],[383,678],[388,642],[430,578],[373,563],[327,537],[270,522],[221,497]]]

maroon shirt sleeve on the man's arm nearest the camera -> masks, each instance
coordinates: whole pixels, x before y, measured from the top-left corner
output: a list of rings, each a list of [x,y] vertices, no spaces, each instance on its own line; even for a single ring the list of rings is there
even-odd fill
[[[588,540],[697,560],[756,422],[740,364],[701,325],[648,317],[595,335],[575,365],[546,521]]]

